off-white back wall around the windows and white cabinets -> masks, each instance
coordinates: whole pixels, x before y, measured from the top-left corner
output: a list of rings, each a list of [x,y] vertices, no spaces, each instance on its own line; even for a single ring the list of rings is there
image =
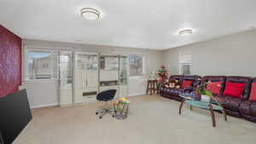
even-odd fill
[[[152,71],[157,71],[163,64],[163,52],[150,49],[132,49],[122,47],[108,47],[102,45],[77,44],[77,43],[59,43],[23,39],[23,46],[72,49],[80,52],[113,53],[113,54],[143,54],[145,56],[145,75],[141,77],[129,77],[128,87],[129,95],[143,95],[146,93],[146,81]],[[24,48],[23,48],[24,50]],[[24,55],[23,55],[24,57]],[[24,60],[24,59],[23,59]],[[55,81],[48,82],[25,82],[24,81],[24,61],[23,67],[23,85],[27,89],[30,105],[32,107],[52,106],[58,103],[58,87]]]

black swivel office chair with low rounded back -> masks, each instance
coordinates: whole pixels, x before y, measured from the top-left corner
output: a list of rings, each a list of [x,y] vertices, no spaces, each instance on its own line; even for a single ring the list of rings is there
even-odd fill
[[[114,112],[111,107],[108,106],[108,101],[113,100],[113,97],[116,93],[116,89],[109,89],[102,91],[96,96],[98,101],[105,101],[105,107],[103,109],[96,110],[96,115],[100,114],[99,118],[102,118],[106,113],[109,113],[114,117]]]

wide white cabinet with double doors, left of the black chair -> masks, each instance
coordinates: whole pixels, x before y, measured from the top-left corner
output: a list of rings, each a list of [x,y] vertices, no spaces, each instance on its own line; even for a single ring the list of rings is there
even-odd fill
[[[79,53],[75,56],[75,62],[75,103],[96,101],[98,93],[97,55]]]

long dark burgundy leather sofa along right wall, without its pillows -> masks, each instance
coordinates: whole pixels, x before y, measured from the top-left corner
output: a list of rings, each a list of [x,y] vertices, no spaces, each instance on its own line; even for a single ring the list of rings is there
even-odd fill
[[[240,77],[240,76],[236,76],[236,77],[205,76],[204,78],[201,79],[200,76],[181,76],[181,75],[171,76],[170,79],[172,78],[179,80],[180,84],[182,83],[183,79],[187,79],[187,80],[195,79],[195,83],[192,86],[193,88],[197,87],[198,84],[201,84],[201,82],[202,83],[208,82],[208,81],[222,82],[220,95],[216,95],[216,98],[218,99],[218,101],[225,102],[223,104],[225,112],[227,112],[231,116],[240,117],[240,118],[242,117],[256,123],[256,101],[249,101],[251,84],[256,83],[256,78]],[[242,97],[235,98],[230,95],[223,95],[226,82],[246,84],[246,87],[245,89],[243,89],[243,92],[242,92]],[[165,97],[172,98],[178,101],[182,100],[182,98],[179,97],[178,95],[183,92],[185,92],[185,89],[170,89],[170,88],[165,88],[164,86],[160,88],[160,95],[163,95]]]

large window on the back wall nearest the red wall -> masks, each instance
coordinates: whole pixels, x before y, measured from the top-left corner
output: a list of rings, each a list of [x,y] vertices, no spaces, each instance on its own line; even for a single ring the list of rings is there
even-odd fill
[[[26,80],[58,78],[58,54],[56,51],[27,49]]]

